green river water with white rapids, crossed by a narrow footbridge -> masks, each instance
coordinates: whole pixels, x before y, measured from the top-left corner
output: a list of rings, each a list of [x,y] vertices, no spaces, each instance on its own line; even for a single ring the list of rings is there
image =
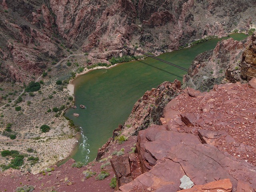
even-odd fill
[[[231,34],[230,37],[242,40],[247,36]],[[213,49],[218,41],[220,39],[212,39],[158,57],[188,69],[198,54]],[[83,104],[86,109],[70,108],[66,111],[66,116],[82,128],[82,137],[71,158],[84,163],[94,160],[98,148],[112,136],[118,124],[125,122],[135,102],[146,90],[156,88],[164,81],[182,81],[184,74],[184,70],[153,58],[145,58],[78,76],[73,81],[76,106]],[[74,117],[73,113],[80,116]]]

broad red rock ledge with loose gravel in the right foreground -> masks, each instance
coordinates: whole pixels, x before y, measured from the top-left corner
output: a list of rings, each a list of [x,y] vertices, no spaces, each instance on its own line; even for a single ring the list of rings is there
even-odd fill
[[[183,191],[255,191],[255,102],[256,89],[247,84],[204,93],[184,90],[167,104],[162,126],[139,131],[136,147],[144,173],[120,190],[177,191],[186,175],[195,186]]]

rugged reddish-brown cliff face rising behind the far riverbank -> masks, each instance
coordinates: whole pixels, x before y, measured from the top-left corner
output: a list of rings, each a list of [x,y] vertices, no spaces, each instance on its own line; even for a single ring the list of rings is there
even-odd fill
[[[86,52],[124,44],[162,52],[255,22],[253,0],[2,0],[0,6],[2,74],[20,81],[68,53],[60,42]]]

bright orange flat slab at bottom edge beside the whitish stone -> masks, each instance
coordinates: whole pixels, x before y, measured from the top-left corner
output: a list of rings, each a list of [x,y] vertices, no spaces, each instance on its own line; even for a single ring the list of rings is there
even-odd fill
[[[232,184],[229,179],[223,179],[177,192],[232,192]]]

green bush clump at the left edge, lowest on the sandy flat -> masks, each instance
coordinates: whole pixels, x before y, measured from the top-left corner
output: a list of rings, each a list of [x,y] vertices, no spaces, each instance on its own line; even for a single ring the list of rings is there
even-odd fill
[[[1,155],[2,157],[11,156],[13,158],[8,165],[0,165],[2,170],[7,170],[9,168],[19,169],[19,167],[24,163],[24,155],[20,155],[17,150],[3,150]]]

